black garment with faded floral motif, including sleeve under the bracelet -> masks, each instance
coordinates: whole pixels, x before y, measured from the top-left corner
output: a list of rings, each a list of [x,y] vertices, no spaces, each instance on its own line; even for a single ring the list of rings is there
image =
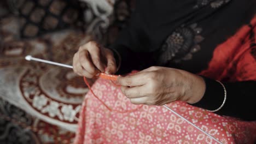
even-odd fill
[[[129,24],[111,46],[121,56],[118,73],[159,65],[198,74],[207,69],[219,44],[249,25],[255,11],[254,0],[136,1]],[[224,89],[208,78],[204,97],[194,105],[214,110],[223,103]],[[222,82],[227,100],[217,113],[256,120],[256,81]]]

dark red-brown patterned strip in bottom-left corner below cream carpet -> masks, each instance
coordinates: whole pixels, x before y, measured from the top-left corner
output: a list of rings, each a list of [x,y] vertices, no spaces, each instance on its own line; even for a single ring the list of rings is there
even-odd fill
[[[0,99],[0,143],[72,143],[74,133]]]

